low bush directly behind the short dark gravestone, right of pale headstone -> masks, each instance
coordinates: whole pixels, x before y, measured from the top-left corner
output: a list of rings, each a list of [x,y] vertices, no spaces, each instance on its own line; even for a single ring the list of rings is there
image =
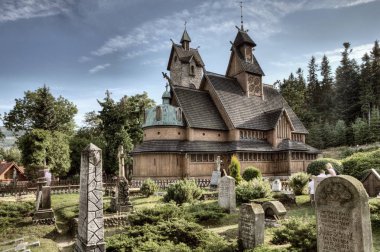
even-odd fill
[[[253,199],[270,198],[272,189],[268,181],[253,179],[242,181],[236,186],[236,201],[238,203],[248,203]]]

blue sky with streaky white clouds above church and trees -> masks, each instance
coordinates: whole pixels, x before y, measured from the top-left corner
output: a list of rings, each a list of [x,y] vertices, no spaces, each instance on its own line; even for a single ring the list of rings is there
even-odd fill
[[[244,2],[268,84],[306,69],[311,55],[336,66],[345,41],[360,61],[380,39],[380,1]],[[160,102],[170,39],[179,42],[185,20],[206,69],[224,74],[236,0],[0,0],[0,113],[44,84],[77,105],[78,124],[107,89],[115,99],[147,91]]]

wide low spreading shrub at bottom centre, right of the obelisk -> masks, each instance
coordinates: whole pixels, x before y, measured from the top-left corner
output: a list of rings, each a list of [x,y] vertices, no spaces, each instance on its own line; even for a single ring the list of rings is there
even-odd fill
[[[130,226],[107,239],[107,251],[233,251],[219,235],[186,220]]]

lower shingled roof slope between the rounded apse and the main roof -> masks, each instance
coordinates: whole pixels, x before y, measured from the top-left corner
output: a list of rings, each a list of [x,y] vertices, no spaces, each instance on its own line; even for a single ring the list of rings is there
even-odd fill
[[[173,86],[174,96],[192,128],[227,130],[207,91]]]

